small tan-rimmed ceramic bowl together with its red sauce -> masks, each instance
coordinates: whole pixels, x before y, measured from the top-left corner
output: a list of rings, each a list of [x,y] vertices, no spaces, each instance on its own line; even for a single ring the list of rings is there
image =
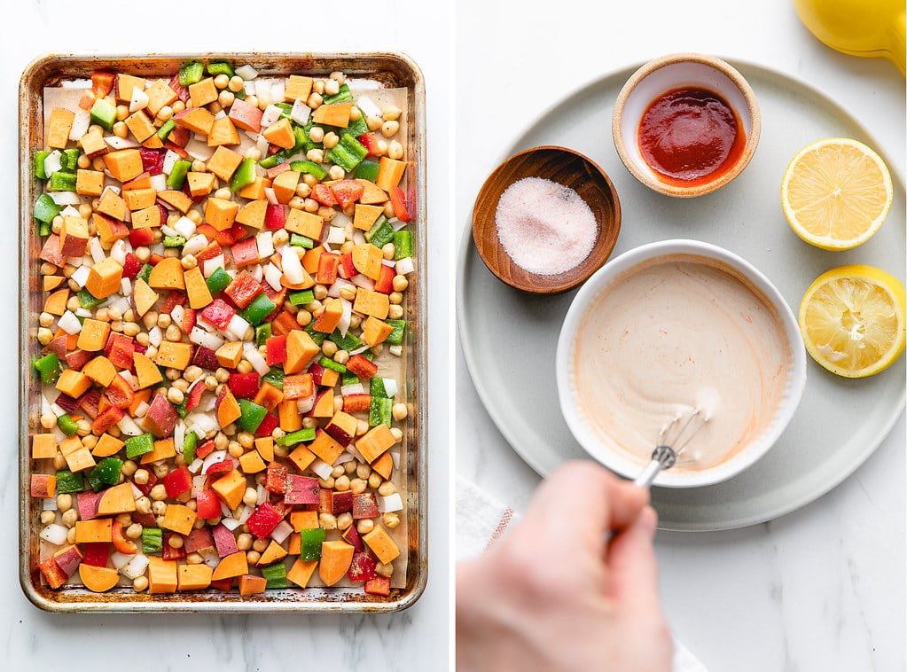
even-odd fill
[[[668,196],[702,196],[734,180],[756,151],[756,93],[714,56],[670,54],[646,63],[621,89],[611,118],[627,170]]]

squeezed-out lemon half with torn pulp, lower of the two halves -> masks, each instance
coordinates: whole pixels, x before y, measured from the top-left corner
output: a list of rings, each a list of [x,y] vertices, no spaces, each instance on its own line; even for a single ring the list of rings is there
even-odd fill
[[[879,268],[832,268],[815,279],[800,303],[806,350],[833,374],[877,374],[904,351],[904,303],[901,281]]]

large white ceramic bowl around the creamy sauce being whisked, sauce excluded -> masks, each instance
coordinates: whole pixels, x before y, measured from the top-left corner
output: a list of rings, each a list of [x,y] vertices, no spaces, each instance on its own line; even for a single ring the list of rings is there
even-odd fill
[[[608,438],[590,424],[582,411],[580,396],[577,394],[574,380],[576,342],[583,317],[603,291],[619,282],[620,278],[628,277],[629,271],[638,268],[644,262],[673,255],[716,259],[722,265],[735,270],[746,278],[751,287],[755,287],[758,293],[775,307],[784,331],[783,340],[789,346],[790,351],[785,393],[777,404],[775,414],[761,433],[758,433],[753,440],[746,443],[729,458],[714,466],[697,471],[668,469],[660,472],[654,482],[655,485],[664,487],[692,488],[726,481],[762,457],[794,416],[806,384],[805,348],[796,317],[786,304],[784,297],[768,278],[745,259],[737,257],[727,249],[697,240],[663,240],[649,243],[631,249],[618,258],[611,259],[580,288],[576,297],[573,298],[567,317],[564,318],[557,348],[557,385],[561,413],[580,445],[611,471],[628,478],[638,476],[645,466],[644,461],[641,458],[633,460],[627,453],[610,444]],[[607,375],[607,372],[603,373]],[[653,436],[652,449],[655,448],[655,439],[656,437]],[[728,450],[730,450],[730,446]]]

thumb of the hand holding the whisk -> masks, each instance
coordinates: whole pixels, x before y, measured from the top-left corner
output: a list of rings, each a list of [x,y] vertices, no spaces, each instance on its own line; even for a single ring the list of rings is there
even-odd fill
[[[608,548],[608,594],[621,609],[661,613],[658,599],[658,565],[652,539],[658,515],[650,506],[636,521],[611,539]]]

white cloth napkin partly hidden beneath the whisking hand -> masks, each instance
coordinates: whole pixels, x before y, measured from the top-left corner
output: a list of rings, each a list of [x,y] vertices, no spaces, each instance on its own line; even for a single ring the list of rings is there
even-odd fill
[[[456,482],[456,559],[480,555],[496,541],[518,513],[496,501],[473,482],[457,476]],[[674,639],[674,672],[707,672],[693,654]]]

